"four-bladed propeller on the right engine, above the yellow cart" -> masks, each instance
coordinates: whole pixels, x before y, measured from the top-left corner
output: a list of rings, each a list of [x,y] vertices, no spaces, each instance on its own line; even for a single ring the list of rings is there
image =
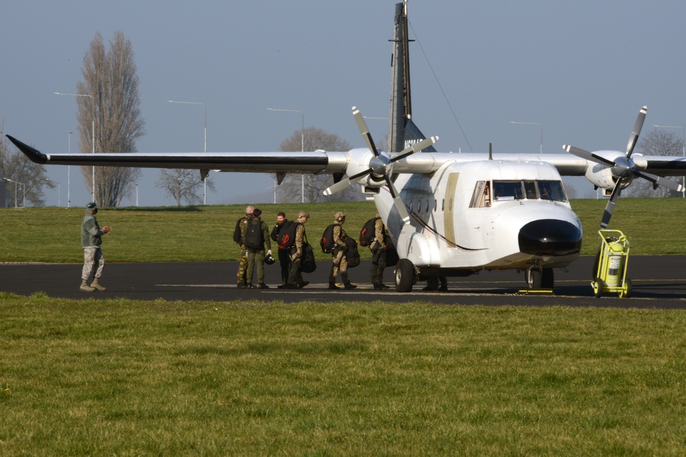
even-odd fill
[[[573,147],[570,145],[563,146],[563,149],[565,149],[565,151],[572,153],[573,155],[578,156],[582,159],[591,160],[592,162],[597,162],[599,164],[611,166],[613,176],[617,177],[615,187],[612,189],[610,199],[608,200],[607,205],[605,206],[605,212],[602,215],[602,221],[600,221],[601,229],[606,228],[608,223],[610,223],[612,213],[615,210],[615,204],[617,203],[617,198],[619,197],[619,190],[621,190],[622,186],[624,186],[625,183],[628,184],[628,182],[631,182],[631,180],[634,179],[635,176],[642,177],[644,180],[652,182],[654,187],[665,186],[667,188],[677,190],[679,192],[683,190],[681,184],[677,184],[672,180],[667,180],[664,177],[652,175],[650,173],[646,173],[645,171],[637,170],[633,160],[631,160],[631,154],[633,153],[634,148],[636,147],[636,143],[638,143],[639,134],[641,134],[641,128],[643,128],[643,121],[646,120],[647,112],[647,106],[643,106],[643,108],[641,108],[641,110],[639,111],[639,115],[637,116],[636,122],[634,123],[634,127],[631,130],[631,134],[629,135],[628,143],[626,143],[626,155],[624,157],[618,157],[615,160],[609,160],[608,158],[604,158],[603,156],[600,156],[595,152],[584,151],[584,149],[579,149],[578,147]]]

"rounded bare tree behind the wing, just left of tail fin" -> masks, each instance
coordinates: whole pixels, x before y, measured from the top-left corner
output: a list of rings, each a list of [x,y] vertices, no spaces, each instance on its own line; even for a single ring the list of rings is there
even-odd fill
[[[296,130],[281,142],[281,151],[349,151],[350,143],[337,134],[330,134],[317,127],[307,127],[304,132]],[[282,202],[299,202],[305,196],[305,201],[318,203],[321,201],[359,201],[364,199],[359,185],[350,186],[342,192],[331,196],[324,196],[322,191],[333,184],[331,175],[287,175],[277,189],[277,196]],[[304,188],[304,192],[303,192]]]

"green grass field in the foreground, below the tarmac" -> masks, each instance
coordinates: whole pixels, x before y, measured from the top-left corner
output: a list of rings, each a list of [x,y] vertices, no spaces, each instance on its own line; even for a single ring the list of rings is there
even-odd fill
[[[686,453],[678,310],[0,299],[1,455]]]

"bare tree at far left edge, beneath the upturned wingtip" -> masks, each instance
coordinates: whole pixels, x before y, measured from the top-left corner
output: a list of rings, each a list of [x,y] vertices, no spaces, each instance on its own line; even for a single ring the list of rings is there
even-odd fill
[[[54,189],[54,182],[47,180],[45,166],[32,162],[16,148],[14,152],[10,152],[8,143],[4,140],[4,130],[3,123],[0,125],[0,179],[5,179],[10,201],[16,201],[17,205],[23,206],[26,199],[33,206],[45,206],[43,187]],[[4,197],[0,195],[0,198]]]

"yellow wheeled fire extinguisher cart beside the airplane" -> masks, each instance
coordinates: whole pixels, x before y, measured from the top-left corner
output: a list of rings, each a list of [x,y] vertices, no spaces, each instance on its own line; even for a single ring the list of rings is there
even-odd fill
[[[591,282],[593,293],[600,298],[603,293],[619,293],[619,298],[631,297],[631,280],[626,278],[629,260],[629,242],[619,230],[599,230],[602,245],[595,259],[595,280]]]

